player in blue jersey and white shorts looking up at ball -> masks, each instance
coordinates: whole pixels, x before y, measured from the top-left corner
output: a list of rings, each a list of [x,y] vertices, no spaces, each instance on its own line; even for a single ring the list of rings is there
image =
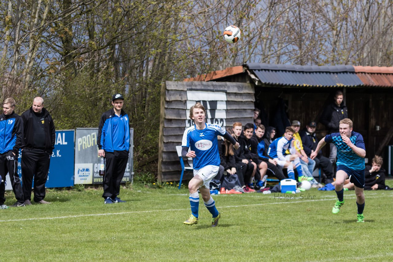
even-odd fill
[[[193,158],[194,177],[188,183],[191,216],[184,221],[184,224],[193,225],[198,223],[199,189],[203,202],[213,217],[211,226],[216,227],[220,213],[210,196],[209,184],[212,178],[217,175],[220,166],[217,136],[228,139],[235,149],[239,148],[239,143],[219,125],[206,124],[206,109],[201,103],[191,106],[189,116],[195,122],[195,125],[184,131],[182,157]],[[189,148],[190,151],[188,151]]]

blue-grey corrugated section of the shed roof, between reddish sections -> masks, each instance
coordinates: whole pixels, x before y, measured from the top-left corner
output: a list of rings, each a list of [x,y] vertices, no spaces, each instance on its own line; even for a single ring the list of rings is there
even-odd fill
[[[354,67],[245,64],[264,84],[279,86],[341,87],[363,86]]]

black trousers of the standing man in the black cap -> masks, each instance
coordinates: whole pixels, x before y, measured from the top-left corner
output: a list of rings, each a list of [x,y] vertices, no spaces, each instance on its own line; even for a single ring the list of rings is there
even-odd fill
[[[120,193],[120,182],[127,167],[129,152],[105,151],[105,175],[103,178],[103,198],[115,198]]]

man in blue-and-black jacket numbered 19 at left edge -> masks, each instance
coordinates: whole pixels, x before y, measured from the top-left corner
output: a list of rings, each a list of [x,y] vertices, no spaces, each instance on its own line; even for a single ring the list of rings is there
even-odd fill
[[[14,113],[15,100],[7,98],[3,102],[3,114],[0,115],[0,206],[6,209],[4,205],[6,198],[6,175],[9,174],[12,189],[17,202],[13,207],[25,206],[22,187],[18,176],[18,154],[22,145],[23,123],[20,116]]]

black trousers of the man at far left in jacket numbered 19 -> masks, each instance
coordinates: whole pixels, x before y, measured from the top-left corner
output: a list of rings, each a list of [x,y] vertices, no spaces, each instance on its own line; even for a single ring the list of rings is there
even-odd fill
[[[12,190],[14,191],[15,198],[19,203],[24,203],[22,186],[20,185],[20,179],[18,176],[18,155],[14,156],[12,151],[0,154],[0,175],[1,179],[4,180],[4,182],[0,185],[0,205],[3,205],[4,202],[6,202],[4,193],[6,192],[7,173],[11,180]]]

